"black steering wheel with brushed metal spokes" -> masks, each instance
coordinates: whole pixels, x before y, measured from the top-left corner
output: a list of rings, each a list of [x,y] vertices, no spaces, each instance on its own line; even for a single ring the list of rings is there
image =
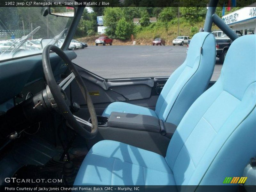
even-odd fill
[[[55,78],[52,73],[51,63],[50,63],[50,51],[57,53],[60,58],[65,62],[70,70],[70,75],[68,75],[63,81],[59,84],[56,83]],[[52,107],[57,109],[57,111],[64,116],[67,121],[67,124],[74,129],[78,134],[86,139],[92,139],[96,136],[98,132],[98,120],[96,116],[95,109],[90,97],[90,94],[87,88],[84,85],[84,82],[76,70],[74,64],[68,58],[68,56],[57,46],[47,45],[42,54],[44,76],[47,82],[46,89],[43,91],[44,98],[47,98],[48,102],[45,101],[47,107]],[[87,103],[89,113],[91,116],[92,123],[85,121],[75,115],[73,115],[66,103],[67,96],[64,90],[72,82],[73,79],[76,79],[76,82],[83,94],[84,100]],[[86,130],[83,126],[91,128],[91,132]]]

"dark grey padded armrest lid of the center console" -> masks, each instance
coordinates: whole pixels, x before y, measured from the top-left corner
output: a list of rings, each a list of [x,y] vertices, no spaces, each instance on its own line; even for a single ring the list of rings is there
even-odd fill
[[[108,126],[115,128],[160,132],[159,120],[148,115],[112,112],[108,118]]]

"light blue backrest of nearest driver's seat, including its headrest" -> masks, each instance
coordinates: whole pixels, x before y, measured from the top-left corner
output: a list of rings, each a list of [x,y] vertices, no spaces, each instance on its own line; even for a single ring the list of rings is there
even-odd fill
[[[237,38],[218,81],[188,109],[167,149],[177,185],[221,185],[256,155],[256,35]]]

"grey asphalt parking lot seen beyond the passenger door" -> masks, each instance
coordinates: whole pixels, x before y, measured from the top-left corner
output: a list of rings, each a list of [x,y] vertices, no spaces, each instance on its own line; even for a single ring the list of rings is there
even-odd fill
[[[186,59],[187,46],[89,46],[76,50],[79,66],[104,78],[170,76]],[[217,58],[212,80],[220,76]]]

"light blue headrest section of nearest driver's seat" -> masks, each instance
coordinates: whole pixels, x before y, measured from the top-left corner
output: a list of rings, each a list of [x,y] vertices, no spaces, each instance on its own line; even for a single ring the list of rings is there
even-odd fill
[[[238,37],[229,47],[221,70],[225,91],[242,99],[256,81],[256,35]]]

